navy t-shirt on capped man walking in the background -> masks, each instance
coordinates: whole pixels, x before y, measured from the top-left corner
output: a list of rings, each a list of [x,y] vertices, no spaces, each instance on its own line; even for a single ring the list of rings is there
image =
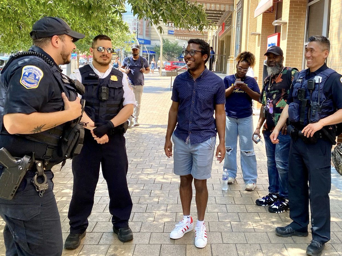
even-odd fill
[[[128,56],[123,59],[121,66],[127,67],[128,58],[130,58],[129,68],[131,71],[127,74],[128,80],[132,85],[144,85],[144,74],[140,71],[142,68],[148,68],[148,61],[142,56],[139,56],[137,60],[134,60],[132,56]],[[143,58],[143,66],[141,66],[141,59]]]

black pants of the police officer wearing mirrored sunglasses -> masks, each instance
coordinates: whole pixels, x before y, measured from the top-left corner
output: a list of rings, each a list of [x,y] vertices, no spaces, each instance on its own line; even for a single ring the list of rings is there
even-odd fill
[[[112,223],[116,228],[128,227],[132,200],[126,180],[128,160],[125,137],[113,134],[109,136],[109,142],[97,144],[90,131],[86,130],[81,154],[72,163],[74,187],[68,213],[71,233],[83,233],[88,227],[100,163],[108,186]]]

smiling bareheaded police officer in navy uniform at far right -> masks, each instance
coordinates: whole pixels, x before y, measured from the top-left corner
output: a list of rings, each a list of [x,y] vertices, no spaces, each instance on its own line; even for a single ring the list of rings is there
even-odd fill
[[[320,255],[330,240],[331,147],[336,144],[336,124],[342,122],[342,77],[325,64],[330,41],[312,36],[305,47],[308,69],[293,79],[287,106],[270,138],[278,143],[287,117],[291,136],[289,154],[289,203],[292,223],[277,227],[281,237],[308,235],[309,201],[311,244],[308,255]],[[309,185],[308,185],[309,184]]]

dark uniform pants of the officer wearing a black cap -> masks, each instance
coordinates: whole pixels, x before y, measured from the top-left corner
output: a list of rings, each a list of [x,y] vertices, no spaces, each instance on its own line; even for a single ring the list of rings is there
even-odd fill
[[[43,197],[31,183],[34,174],[30,171],[26,174],[12,200],[0,199],[7,256],[62,255],[61,219],[52,191],[53,173],[45,171],[49,187]]]

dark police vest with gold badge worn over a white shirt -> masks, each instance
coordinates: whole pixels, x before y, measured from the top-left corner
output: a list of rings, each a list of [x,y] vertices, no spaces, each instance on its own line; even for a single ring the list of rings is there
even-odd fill
[[[84,111],[95,122],[105,122],[115,117],[123,108],[123,85],[121,71],[112,69],[109,75],[100,79],[90,65],[79,68],[82,84],[86,93],[82,99],[86,100]],[[107,100],[100,99],[100,90],[108,88]]]

